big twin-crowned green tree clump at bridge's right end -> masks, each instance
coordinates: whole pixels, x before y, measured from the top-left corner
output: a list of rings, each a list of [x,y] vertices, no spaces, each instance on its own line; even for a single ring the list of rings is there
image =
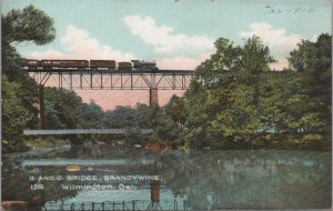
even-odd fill
[[[221,38],[215,48],[216,53],[198,68],[185,94],[190,110],[186,139],[249,142],[264,125],[260,82],[274,59],[258,37],[243,47]]]

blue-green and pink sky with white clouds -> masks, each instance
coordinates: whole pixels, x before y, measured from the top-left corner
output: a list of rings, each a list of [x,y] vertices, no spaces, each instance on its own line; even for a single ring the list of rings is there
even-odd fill
[[[330,0],[3,0],[1,12],[29,4],[53,18],[57,30],[51,43],[17,47],[31,59],[143,59],[194,70],[218,38],[242,46],[255,34],[278,60],[272,70],[282,70],[302,39],[332,31]],[[104,110],[149,101],[149,91],[77,92]],[[183,92],[160,91],[159,102]]]

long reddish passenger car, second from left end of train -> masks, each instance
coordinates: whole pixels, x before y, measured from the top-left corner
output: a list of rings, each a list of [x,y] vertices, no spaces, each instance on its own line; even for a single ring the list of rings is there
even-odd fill
[[[52,68],[89,68],[88,60],[41,60],[40,66],[44,69]]]

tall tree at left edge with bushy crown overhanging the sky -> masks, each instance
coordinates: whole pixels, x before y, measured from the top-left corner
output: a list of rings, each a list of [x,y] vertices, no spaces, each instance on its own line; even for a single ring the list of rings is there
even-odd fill
[[[14,44],[23,41],[44,44],[54,39],[53,20],[29,6],[1,16],[2,41],[2,142],[14,150],[22,144],[22,131],[37,125],[38,84],[21,70],[24,59]],[[23,113],[22,113],[23,112]],[[22,119],[23,118],[23,119]],[[6,125],[4,125],[6,124]],[[4,150],[6,152],[6,150]]]

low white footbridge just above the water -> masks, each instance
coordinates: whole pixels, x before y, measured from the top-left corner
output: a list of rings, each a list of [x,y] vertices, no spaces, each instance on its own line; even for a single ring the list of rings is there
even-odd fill
[[[24,130],[24,135],[48,135],[48,134],[124,134],[125,129],[64,129],[64,130]],[[140,132],[140,131],[138,131]],[[152,133],[152,129],[141,129],[141,133]]]

